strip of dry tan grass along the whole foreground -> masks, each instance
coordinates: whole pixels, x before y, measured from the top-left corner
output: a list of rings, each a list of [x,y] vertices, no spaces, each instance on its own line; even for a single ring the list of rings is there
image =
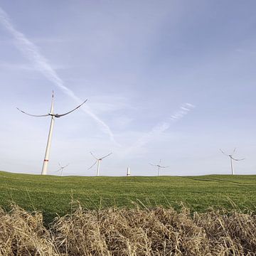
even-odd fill
[[[0,211],[0,255],[256,255],[248,213],[174,209],[83,210],[57,217],[12,206]]]

